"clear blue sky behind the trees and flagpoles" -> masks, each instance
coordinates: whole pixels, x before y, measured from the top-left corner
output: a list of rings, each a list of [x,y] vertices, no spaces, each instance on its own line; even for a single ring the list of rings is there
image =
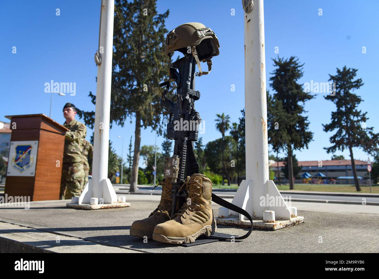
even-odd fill
[[[202,22],[215,31],[220,42],[220,55],[213,58],[210,75],[196,78],[196,89],[201,98],[196,110],[205,120],[203,143],[221,137],[216,131],[216,113],[229,114],[232,122],[238,122],[244,108],[244,51],[243,9],[240,0],[204,1],[158,0],[159,13],[170,10],[166,28],[172,30],[185,22]],[[203,10],[197,10],[202,7]],[[56,8],[60,16],[56,16]],[[147,7],[148,8],[148,7]],[[231,9],[235,9],[235,16]],[[319,16],[319,9],[322,16]],[[335,1],[265,1],[266,77],[273,71],[272,58],[298,56],[304,64],[304,76],[300,82],[327,82],[328,74],[335,74],[343,66],[358,69],[357,77],[364,85],[356,91],[364,102],[360,109],[368,112],[366,125],[379,132],[377,76],[379,64],[379,37],[377,36],[379,2],[352,0]],[[204,10],[205,9],[205,10]],[[74,103],[81,110],[94,110],[88,92],[96,92],[97,67],[94,54],[99,36],[100,0],[67,1],[1,1],[0,23],[2,42],[0,52],[1,102],[0,121],[5,115],[45,113],[49,115],[50,94],[44,92],[44,83],[75,82],[76,95],[53,96],[52,118],[63,123],[63,105]],[[17,53],[12,53],[16,46]],[[362,53],[362,47],[366,53]],[[176,56],[175,56],[176,57]],[[205,65],[205,64],[204,64]],[[235,92],[230,90],[235,85]],[[268,88],[270,89],[270,88]],[[272,92],[272,89],[270,89]],[[309,149],[296,151],[298,160],[328,160],[323,147],[329,146],[329,136],[322,124],[330,122],[335,110],[332,102],[317,94],[307,102],[310,129],[314,140]],[[124,136],[124,158],[127,144],[133,135],[134,119],[124,127],[113,125],[110,140],[121,155],[121,139]],[[87,139],[92,135],[88,130]],[[151,128],[142,129],[141,146],[154,144]],[[160,146],[163,137],[157,138]],[[337,152],[349,158],[348,151]],[[368,154],[354,149],[356,159],[367,160]],[[371,157],[372,159],[372,157]]]

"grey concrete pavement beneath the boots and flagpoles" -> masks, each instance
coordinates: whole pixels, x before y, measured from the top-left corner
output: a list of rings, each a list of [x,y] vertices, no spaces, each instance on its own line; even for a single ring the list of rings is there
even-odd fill
[[[379,251],[379,214],[374,205],[293,202],[292,206],[298,207],[298,215],[304,216],[304,224],[277,231],[254,230],[249,238],[235,243],[219,241],[187,248],[153,240],[144,243],[142,239],[130,236],[133,221],[146,218],[155,209],[158,200],[159,196],[155,195],[127,195],[130,207],[103,210],[67,208],[67,201],[31,202],[29,210],[0,207],[0,221],[3,222],[0,223],[0,246],[6,243],[9,245],[10,239],[16,234],[37,233],[39,238],[29,235],[30,238],[19,238],[18,241],[27,242],[36,248],[55,246],[50,247],[55,252],[67,252],[70,249],[72,252],[122,249],[125,252],[187,253]],[[212,208],[218,215],[219,205],[213,204]],[[29,229],[25,231],[25,227]],[[217,231],[236,235],[246,233],[246,229],[226,226],[218,226]],[[67,242],[61,241],[60,245],[55,245],[57,235],[67,237]],[[78,245],[73,245],[75,243]]]

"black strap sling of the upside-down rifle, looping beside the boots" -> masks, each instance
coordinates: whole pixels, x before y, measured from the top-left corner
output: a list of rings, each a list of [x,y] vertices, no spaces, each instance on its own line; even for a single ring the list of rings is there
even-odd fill
[[[194,154],[194,150],[193,150],[193,146],[192,146],[191,141],[187,141],[187,154],[188,154],[188,160],[189,160],[188,163],[189,163],[189,166],[191,168],[191,175],[195,174],[195,173],[199,173],[199,164],[196,161],[196,157]],[[222,199],[221,197],[219,197],[213,193],[212,193],[212,201],[216,202],[216,204],[221,205],[222,207],[226,207],[230,210],[233,210],[237,213],[240,213],[243,216],[245,216],[247,219],[249,219],[249,221],[251,222],[250,230],[245,235],[243,235],[241,237],[235,237],[235,239],[239,240],[239,239],[244,239],[244,238],[249,237],[249,235],[251,234],[251,232],[253,230],[253,219],[251,218],[250,214],[246,212],[246,210],[243,210],[242,208],[240,208],[240,207],[238,207],[238,206],[236,206],[230,202],[225,201],[224,199]],[[215,238],[230,239],[230,238],[225,238],[225,237],[215,237]]]

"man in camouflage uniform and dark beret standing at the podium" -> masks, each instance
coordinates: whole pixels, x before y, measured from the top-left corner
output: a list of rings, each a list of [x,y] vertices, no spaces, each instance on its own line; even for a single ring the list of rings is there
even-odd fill
[[[64,154],[61,179],[61,199],[70,199],[80,196],[84,189],[85,172],[83,165],[83,141],[86,136],[86,125],[75,120],[77,108],[72,103],[63,107],[63,116],[66,118],[63,126],[70,131],[64,138]]]

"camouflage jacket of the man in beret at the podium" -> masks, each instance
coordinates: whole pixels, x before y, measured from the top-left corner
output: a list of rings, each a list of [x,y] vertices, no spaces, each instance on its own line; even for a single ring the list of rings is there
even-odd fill
[[[64,138],[63,161],[83,161],[83,141],[87,132],[86,125],[74,119],[69,124],[64,122],[63,126],[70,130],[70,132],[66,132]]]

